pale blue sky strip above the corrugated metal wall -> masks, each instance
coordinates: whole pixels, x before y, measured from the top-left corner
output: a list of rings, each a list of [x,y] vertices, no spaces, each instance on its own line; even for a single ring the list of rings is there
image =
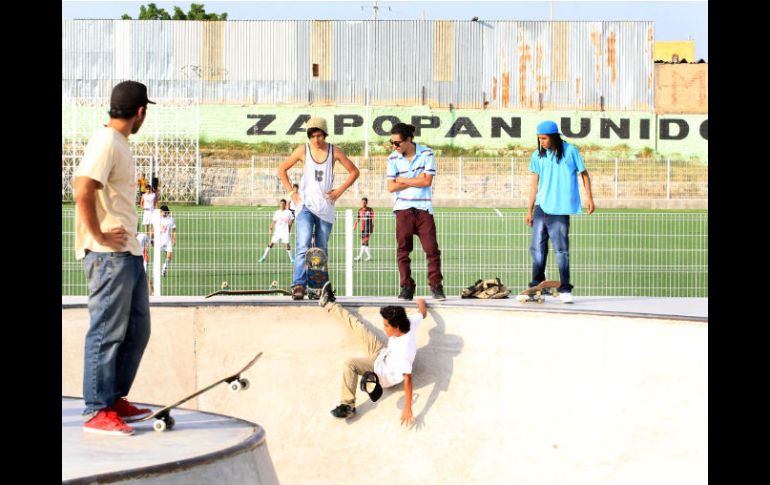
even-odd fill
[[[62,1],[64,19],[119,19],[139,16],[151,1]],[[193,2],[154,2],[173,13]],[[372,0],[349,1],[206,1],[207,12],[227,12],[228,20],[370,20]],[[646,20],[655,22],[655,40],[695,40],[695,57],[708,61],[706,1],[382,1],[379,20]],[[551,11],[553,10],[553,17]]]

